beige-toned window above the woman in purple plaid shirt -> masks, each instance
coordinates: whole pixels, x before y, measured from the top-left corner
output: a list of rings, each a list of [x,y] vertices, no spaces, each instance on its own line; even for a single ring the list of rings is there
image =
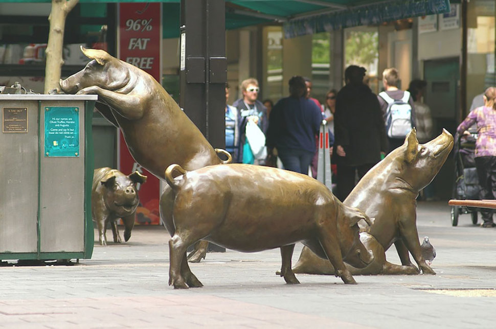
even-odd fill
[[[481,93],[487,87],[496,86],[494,74],[495,15],[494,0],[476,0],[469,3],[467,109],[471,109],[472,101],[475,101],[474,106],[482,105]]]

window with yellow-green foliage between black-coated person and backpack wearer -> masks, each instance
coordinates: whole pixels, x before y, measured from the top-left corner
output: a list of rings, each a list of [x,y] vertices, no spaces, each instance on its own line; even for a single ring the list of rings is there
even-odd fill
[[[379,34],[376,27],[345,29],[345,68],[349,65],[367,69],[365,82],[373,92],[379,92],[377,66],[379,62]]]

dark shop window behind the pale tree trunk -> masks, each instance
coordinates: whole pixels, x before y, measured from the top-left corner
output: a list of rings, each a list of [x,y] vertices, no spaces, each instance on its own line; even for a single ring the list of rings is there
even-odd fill
[[[88,59],[79,46],[114,51],[114,4],[79,4],[65,21],[62,77],[80,70]],[[0,6],[0,85],[19,82],[42,93],[51,4]],[[110,31],[108,31],[110,30]],[[112,49],[108,49],[108,45]]]

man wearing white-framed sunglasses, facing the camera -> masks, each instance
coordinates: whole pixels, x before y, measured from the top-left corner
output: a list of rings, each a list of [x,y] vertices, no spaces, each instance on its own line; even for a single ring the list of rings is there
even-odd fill
[[[255,158],[250,151],[250,146],[247,145],[246,125],[251,121],[265,134],[268,126],[267,108],[258,100],[259,87],[257,79],[250,78],[241,82],[241,91],[243,98],[233,103],[233,106],[238,109],[239,123],[238,158],[236,160],[233,159],[233,162],[262,165],[265,157],[260,159]]]

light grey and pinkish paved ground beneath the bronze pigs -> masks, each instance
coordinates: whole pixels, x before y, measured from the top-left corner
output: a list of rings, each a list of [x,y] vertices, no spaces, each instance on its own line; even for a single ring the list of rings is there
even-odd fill
[[[452,227],[449,211],[446,201],[418,205],[437,275],[355,276],[357,285],[302,274],[286,285],[279,249],[228,250],[190,265],[204,288],[173,290],[167,231],[135,227],[128,243],[97,242],[79,265],[0,267],[0,328],[494,328],[496,228],[470,215]],[[394,246],[387,257],[399,264]]]

